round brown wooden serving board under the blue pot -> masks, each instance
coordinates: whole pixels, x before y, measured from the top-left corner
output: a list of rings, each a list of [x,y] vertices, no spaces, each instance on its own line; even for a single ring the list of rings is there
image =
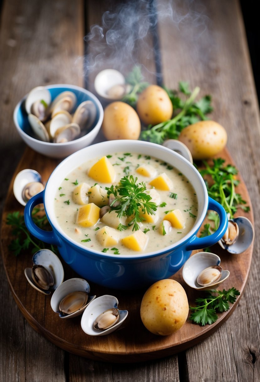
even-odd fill
[[[233,164],[226,150],[218,154],[218,157],[226,159],[226,163]],[[43,181],[47,181],[58,163],[58,160],[43,157],[27,148],[16,169],[13,180],[22,169],[33,168],[42,175]],[[110,335],[91,337],[85,334],[80,326],[81,316],[72,319],[60,319],[58,314],[51,309],[51,297],[46,297],[42,293],[37,292],[27,282],[24,269],[32,267],[32,254],[24,252],[15,257],[8,250],[8,245],[13,236],[11,235],[10,225],[6,225],[6,215],[18,210],[23,213],[23,207],[19,205],[13,195],[13,180],[7,194],[2,220],[1,244],[6,275],[14,299],[26,320],[37,332],[57,346],[79,356],[95,360],[116,363],[146,361],[178,353],[195,345],[217,330],[234,311],[241,295],[238,296],[236,303],[231,305],[229,311],[218,315],[219,318],[215,324],[202,327],[187,320],[185,325],[176,333],[160,337],[146,330],[140,319],[140,304],[145,290],[133,292],[109,290],[108,288],[91,283],[91,295],[101,296],[109,294],[116,296],[119,300],[119,308],[128,310],[128,317],[119,330]],[[244,215],[253,223],[249,194],[242,180],[237,187],[237,192],[242,194],[242,197],[251,207],[251,212],[245,213],[239,210],[237,215]],[[221,285],[221,289],[225,288],[227,290],[234,286],[242,294],[249,274],[253,244],[246,252],[239,255],[225,252],[218,244],[212,247],[212,252],[220,256],[223,269],[230,270],[230,277]],[[77,277],[75,272],[64,262],[63,266],[65,273],[64,280]],[[195,299],[203,295],[203,292],[193,290],[183,282],[181,270],[173,275],[172,278],[183,285],[190,305],[194,305]]]

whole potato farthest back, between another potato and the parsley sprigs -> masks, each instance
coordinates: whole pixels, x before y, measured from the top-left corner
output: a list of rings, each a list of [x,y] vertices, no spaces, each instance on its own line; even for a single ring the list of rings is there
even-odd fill
[[[172,102],[162,87],[150,85],[139,95],[136,110],[145,125],[169,120],[172,117]]]

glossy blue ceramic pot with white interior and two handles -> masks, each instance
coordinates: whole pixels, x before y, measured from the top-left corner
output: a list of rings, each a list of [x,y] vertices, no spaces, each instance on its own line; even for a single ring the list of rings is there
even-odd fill
[[[58,225],[55,217],[54,194],[66,175],[89,158],[102,157],[115,152],[138,152],[153,155],[173,165],[183,173],[193,185],[198,197],[196,222],[189,233],[177,243],[146,254],[114,255],[85,248],[75,242]],[[43,203],[48,220],[53,228],[46,232],[38,228],[32,220],[32,209]],[[220,225],[212,235],[197,238],[207,210],[214,210],[220,216]],[[116,289],[136,289],[151,285],[157,280],[169,278],[175,274],[189,258],[193,249],[201,249],[217,243],[223,236],[228,219],[223,207],[208,197],[204,180],[196,168],[176,152],[149,142],[109,141],[101,142],[82,149],[61,162],[51,174],[45,190],[32,197],[24,210],[24,219],[28,230],[38,239],[58,246],[59,253],[80,276],[88,282]]]

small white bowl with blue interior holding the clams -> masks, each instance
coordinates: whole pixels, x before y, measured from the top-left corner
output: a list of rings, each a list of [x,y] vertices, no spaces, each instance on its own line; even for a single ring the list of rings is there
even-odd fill
[[[26,144],[39,152],[40,154],[46,155],[51,158],[65,158],[68,155],[73,154],[74,152],[83,149],[93,142],[96,138],[98,132],[100,131],[100,127],[103,121],[103,108],[101,106],[100,101],[93,95],[91,92],[83,89],[79,86],[74,85],[66,85],[66,84],[55,84],[46,86],[46,88],[51,92],[51,99],[53,100],[58,94],[63,91],[72,91],[77,96],[77,105],[81,102],[90,100],[94,102],[97,109],[97,116],[93,127],[86,135],[75,139],[71,142],[65,143],[51,143],[51,142],[43,142],[37,138],[34,138],[34,133],[29,125],[28,115],[24,108],[24,101],[27,97],[25,95],[20,102],[16,105],[13,113],[14,124],[16,129],[21,136],[21,138],[26,142]]]

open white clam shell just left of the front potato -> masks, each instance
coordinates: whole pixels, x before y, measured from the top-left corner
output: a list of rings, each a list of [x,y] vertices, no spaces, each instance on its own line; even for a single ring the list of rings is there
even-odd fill
[[[94,328],[95,320],[100,314],[108,309],[116,308],[118,306],[118,299],[115,296],[104,295],[96,298],[88,307],[85,309],[82,318],[81,318],[81,327],[82,330],[88,335],[98,336],[98,335],[107,335],[114,332],[118,329],[120,325],[127,318],[127,310],[119,310],[119,319],[117,323],[105,330],[97,330]]]

